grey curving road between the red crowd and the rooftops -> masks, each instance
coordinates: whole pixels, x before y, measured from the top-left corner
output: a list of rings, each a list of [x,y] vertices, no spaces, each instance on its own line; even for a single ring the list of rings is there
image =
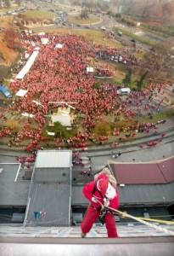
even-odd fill
[[[112,157],[111,151],[114,153],[121,152],[121,156],[117,159]],[[94,151],[93,153],[85,152],[82,155],[86,160],[85,166],[73,166],[72,182],[73,183],[87,183],[93,179],[93,173],[98,172],[108,163],[115,162],[147,162],[155,160],[164,160],[174,154],[174,134],[171,137],[166,137],[164,140],[154,148],[139,148],[132,146],[121,150],[107,150]],[[14,163],[17,162],[16,157],[20,155],[27,155],[21,152],[13,152],[8,150],[0,150],[0,163]],[[81,175],[81,172],[89,170],[91,166],[91,174]],[[88,172],[90,173],[90,172]]]

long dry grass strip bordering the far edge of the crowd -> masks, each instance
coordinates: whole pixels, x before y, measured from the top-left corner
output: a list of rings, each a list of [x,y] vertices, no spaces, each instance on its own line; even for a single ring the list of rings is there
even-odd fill
[[[94,44],[104,45],[105,47],[113,47],[116,49],[122,49],[123,46],[120,42],[105,38],[104,32],[91,30],[91,29],[74,29],[74,28],[57,28],[57,27],[41,27],[33,28],[34,32],[50,32],[57,34],[76,34],[86,37],[88,40],[93,41]]]

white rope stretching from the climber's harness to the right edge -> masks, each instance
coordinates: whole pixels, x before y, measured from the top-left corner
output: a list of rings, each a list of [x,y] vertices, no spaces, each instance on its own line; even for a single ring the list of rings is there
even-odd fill
[[[98,201],[97,198],[96,198],[96,200]],[[100,201],[98,201],[98,203],[100,204],[101,207],[103,207],[103,208],[105,208],[105,209],[108,209],[108,210],[111,211],[111,212],[118,213],[119,215],[124,216],[125,218],[132,218],[132,219],[134,219],[134,220],[136,220],[136,221],[138,221],[138,222],[140,222],[140,223],[142,223],[142,224],[145,224],[145,225],[147,225],[147,226],[149,226],[149,227],[151,227],[151,228],[154,228],[155,230],[159,230],[159,231],[161,231],[161,232],[166,233],[167,235],[174,236],[174,231],[167,230],[167,229],[162,228],[162,227],[159,227],[159,226],[157,226],[157,225],[155,225],[155,224],[151,224],[151,223],[149,223],[149,222],[143,220],[142,218],[134,217],[134,216],[132,216],[132,215],[126,213],[126,212],[121,212],[121,211],[119,211],[119,210],[115,210],[115,209],[112,208],[112,207],[105,207]]]

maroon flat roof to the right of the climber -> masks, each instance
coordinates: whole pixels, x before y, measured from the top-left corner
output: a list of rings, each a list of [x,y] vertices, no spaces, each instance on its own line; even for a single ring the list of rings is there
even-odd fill
[[[115,164],[115,176],[123,184],[160,184],[174,181],[174,158],[160,163]]]

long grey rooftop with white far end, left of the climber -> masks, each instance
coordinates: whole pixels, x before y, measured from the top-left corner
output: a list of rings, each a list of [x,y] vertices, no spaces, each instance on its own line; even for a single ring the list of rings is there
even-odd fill
[[[25,224],[69,225],[72,151],[38,151],[31,178]],[[45,212],[38,222],[34,212]]]

